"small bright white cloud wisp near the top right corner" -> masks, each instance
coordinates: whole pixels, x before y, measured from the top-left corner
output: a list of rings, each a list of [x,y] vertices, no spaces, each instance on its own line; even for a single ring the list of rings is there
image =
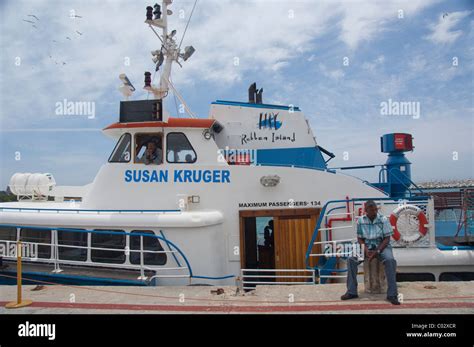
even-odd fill
[[[431,34],[425,38],[436,44],[451,44],[462,34],[462,30],[452,30],[458,23],[467,17],[471,11],[443,13],[439,15],[438,22],[430,24]]]

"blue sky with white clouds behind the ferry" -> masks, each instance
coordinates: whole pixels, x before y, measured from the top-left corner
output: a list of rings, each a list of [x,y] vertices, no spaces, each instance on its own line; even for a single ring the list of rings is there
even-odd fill
[[[148,5],[0,1],[0,190],[15,172],[49,172],[58,185],[94,179],[115,145],[101,129],[118,121],[118,75],[137,87],[134,99],[147,97],[143,73],[160,46]],[[193,5],[170,7],[178,38]],[[172,81],[202,118],[217,99],[246,101],[257,82],[264,103],[300,107],[336,154],[332,167],[383,164],[380,136],[407,132],[416,182],[473,178],[473,28],[468,0],[198,0],[182,45],[196,52]],[[58,112],[64,100],[94,112]],[[166,106],[176,115],[173,97]]]

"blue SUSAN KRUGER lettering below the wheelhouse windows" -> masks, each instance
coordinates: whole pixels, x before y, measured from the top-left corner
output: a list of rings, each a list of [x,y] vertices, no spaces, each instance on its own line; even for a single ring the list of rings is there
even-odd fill
[[[125,182],[230,183],[229,170],[126,170]]]

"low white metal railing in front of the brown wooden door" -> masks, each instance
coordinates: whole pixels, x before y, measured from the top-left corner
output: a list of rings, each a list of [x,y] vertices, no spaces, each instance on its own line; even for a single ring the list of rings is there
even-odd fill
[[[308,285],[316,280],[314,269],[241,269],[240,277],[242,289],[255,289],[257,285]]]

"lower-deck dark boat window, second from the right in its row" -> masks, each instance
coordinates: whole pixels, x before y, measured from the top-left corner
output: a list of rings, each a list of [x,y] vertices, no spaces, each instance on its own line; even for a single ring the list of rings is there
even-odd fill
[[[97,263],[123,264],[125,262],[125,233],[123,230],[99,230],[106,234],[92,234],[91,260]],[[116,235],[114,235],[116,233]],[[102,249],[105,248],[105,249]],[[110,249],[110,250],[109,250]]]

